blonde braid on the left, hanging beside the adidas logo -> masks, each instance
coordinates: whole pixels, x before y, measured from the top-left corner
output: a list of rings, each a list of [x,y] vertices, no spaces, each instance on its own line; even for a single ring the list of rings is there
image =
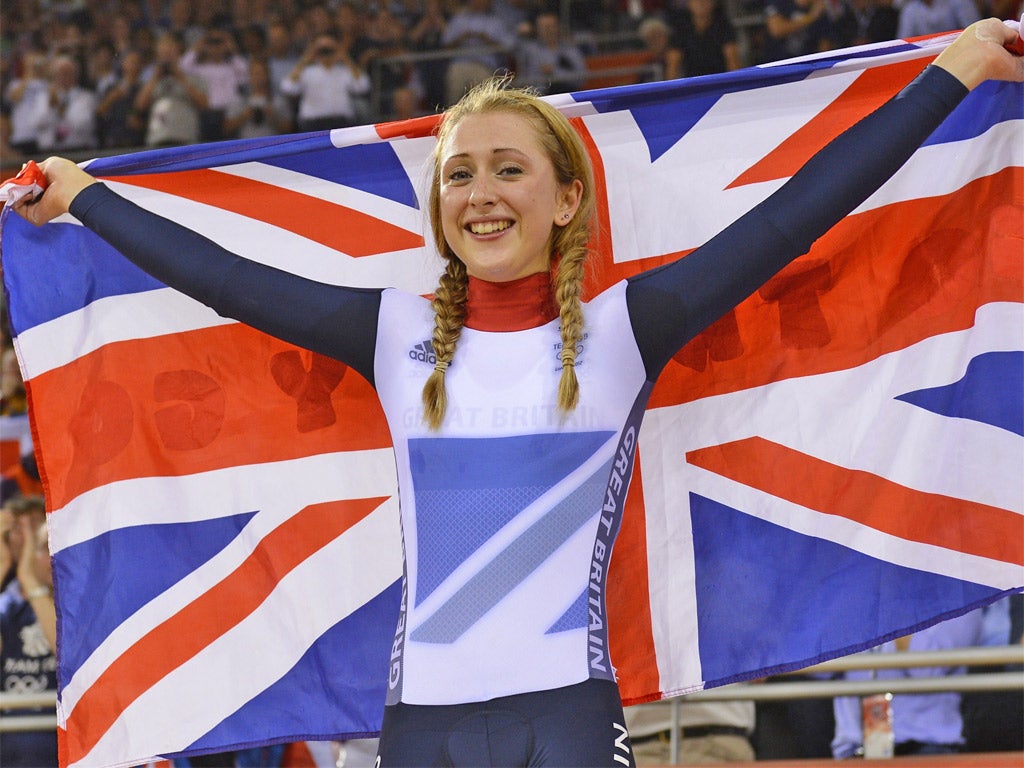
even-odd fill
[[[447,410],[444,371],[455,355],[455,345],[466,319],[469,276],[459,259],[449,259],[434,294],[434,335],[432,345],[437,361],[423,386],[423,412],[431,429],[439,429]]]

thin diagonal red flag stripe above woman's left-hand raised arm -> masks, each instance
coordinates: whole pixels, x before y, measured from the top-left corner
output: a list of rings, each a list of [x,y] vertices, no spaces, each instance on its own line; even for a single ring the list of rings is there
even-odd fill
[[[353,208],[221,171],[112,176],[111,180],[248,216],[349,256],[374,256],[423,246],[422,236]]]

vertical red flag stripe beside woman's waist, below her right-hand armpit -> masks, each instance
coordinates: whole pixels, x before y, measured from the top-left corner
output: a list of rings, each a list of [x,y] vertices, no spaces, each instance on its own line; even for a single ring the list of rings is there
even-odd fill
[[[626,497],[622,527],[611,552],[606,582],[608,652],[620,679],[623,703],[650,701],[655,698],[651,691],[659,691],[662,681],[651,629],[647,518],[639,447],[633,461],[633,479]]]

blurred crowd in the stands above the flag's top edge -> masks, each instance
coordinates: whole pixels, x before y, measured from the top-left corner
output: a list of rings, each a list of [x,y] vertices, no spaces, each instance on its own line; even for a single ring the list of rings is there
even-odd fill
[[[40,154],[404,119],[501,70],[543,92],[579,89],[609,40],[636,50],[639,78],[671,79],[1021,11],[1020,0],[550,3],[11,0],[0,9],[0,158],[10,168]],[[763,23],[746,22],[741,49],[733,17],[751,12]]]

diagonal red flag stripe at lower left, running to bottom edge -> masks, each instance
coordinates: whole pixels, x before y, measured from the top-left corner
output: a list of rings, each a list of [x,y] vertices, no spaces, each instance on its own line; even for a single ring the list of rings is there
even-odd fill
[[[315,504],[270,531],[232,573],[139,639],[85,691],[68,718],[61,765],[88,755],[127,707],[241,624],[287,573],[384,501]]]

